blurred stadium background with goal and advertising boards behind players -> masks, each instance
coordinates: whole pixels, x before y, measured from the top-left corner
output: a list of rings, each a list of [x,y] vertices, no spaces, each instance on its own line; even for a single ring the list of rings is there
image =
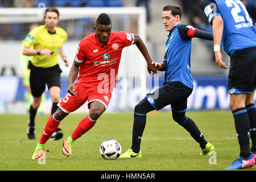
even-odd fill
[[[168,32],[164,30],[162,24],[162,9],[166,5],[180,5],[183,8],[183,16],[181,23],[191,24],[201,30],[211,31],[211,27],[205,19],[200,8],[201,0],[0,0],[0,114],[8,113],[26,113],[26,103],[24,101],[24,93],[26,88],[22,84],[23,68],[20,64],[20,54],[22,49],[22,40],[26,38],[28,30],[32,23],[42,23],[42,18],[38,15],[34,19],[27,16],[15,16],[16,10],[24,11],[29,14],[34,8],[44,3],[46,7],[56,6],[60,8],[59,27],[64,28],[68,32],[68,40],[63,44],[64,51],[68,60],[73,62],[74,55],[80,40],[93,32],[97,12],[92,16],[80,17],[79,12],[85,11],[85,8],[97,8],[96,10],[105,11],[108,8],[122,10],[122,8],[138,7],[137,14],[112,14],[114,31],[127,31],[142,36],[146,42],[148,51],[154,61],[161,62],[164,56]],[[256,19],[256,1],[245,0],[249,14]],[[40,4],[41,3],[41,4]],[[24,8],[24,9],[20,9]],[[77,16],[70,18],[68,14],[63,13],[65,9],[73,9]],[[16,10],[14,10],[16,9]],[[9,13],[5,14],[7,10]],[[113,10],[113,12],[116,10]],[[119,12],[118,11],[118,12]],[[127,11],[127,10],[126,10]],[[129,11],[129,10],[128,10]],[[2,12],[2,13],[1,13]],[[125,11],[124,11],[125,12]],[[13,15],[11,13],[14,13]],[[141,16],[142,15],[142,16]],[[139,18],[142,17],[142,19]],[[143,22],[141,22],[143,21]],[[131,49],[131,50],[129,50]],[[222,51],[223,52],[223,51]],[[109,105],[109,112],[115,111],[132,111],[134,106],[143,97],[146,92],[150,92],[155,86],[161,86],[164,80],[164,73],[159,72],[157,84],[154,79],[147,76],[147,85],[134,85],[134,79],[129,80],[127,74],[133,73],[136,77],[140,77],[139,73],[146,73],[146,67],[143,64],[137,67],[138,59],[142,59],[136,47],[124,49],[121,60],[121,69],[119,70],[117,88],[123,88],[125,84],[132,82],[131,92],[114,92],[112,101]],[[229,57],[223,52],[224,61],[229,66]],[[141,61],[141,60],[140,60]],[[142,61],[143,62],[143,59]],[[63,62],[59,61],[63,73],[61,73],[61,97],[67,92],[68,68],[64,67]],[[221,69],[214,61],[213,42],[193,39],[191,54],[192,75],[195,80],[195,89],[188,100],[188,109],[192,110],[208,110],[208,109],[229,109],[229,94],[227,88],[228,70]],[[126,75],[122,75],[122,73]],[[136,79],[135,79],[136,80]],[[153,85],[153,86],[152,86]],[[127,86],[127,85],[126,85]],[[50,113],[51,100],[46,90],[46,101],[42,109],[42,113]],[[169,110],[165,107],[164,110]],[[77,113],[88,111],[84,105]]]

